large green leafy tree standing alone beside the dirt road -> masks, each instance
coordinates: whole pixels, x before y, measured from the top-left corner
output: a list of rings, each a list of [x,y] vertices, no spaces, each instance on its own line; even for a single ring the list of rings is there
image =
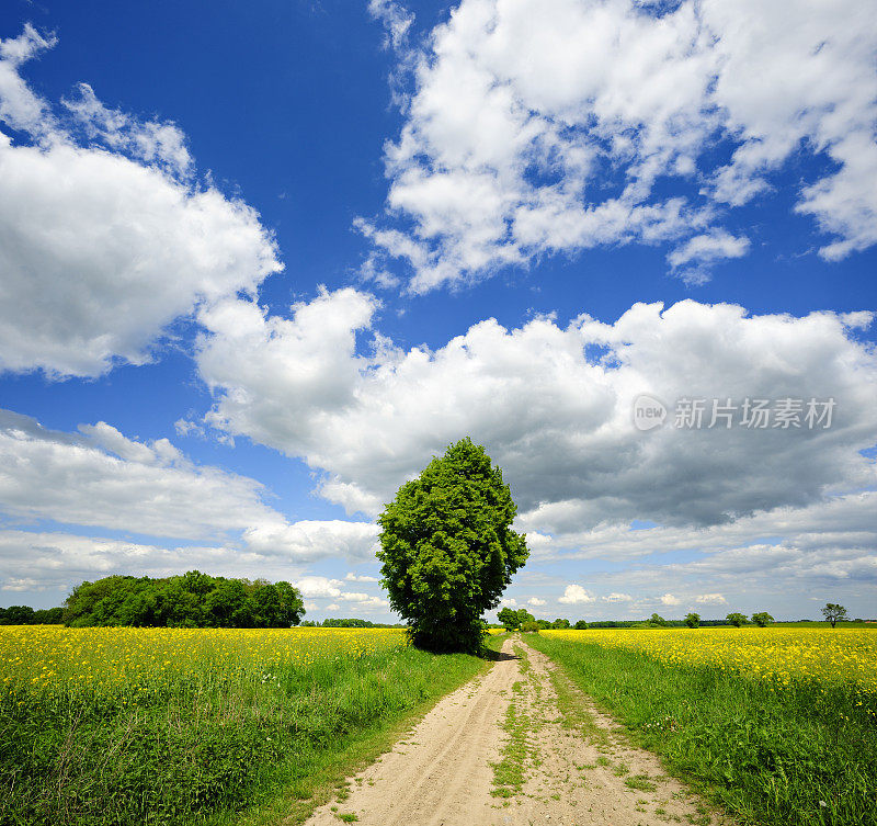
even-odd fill
[[[502,472],[463,439],[407,482],[378,519],[381,584],[408,622],[414,645],[476,653],[481,614],[499,604],[526,562],[523,535]]]

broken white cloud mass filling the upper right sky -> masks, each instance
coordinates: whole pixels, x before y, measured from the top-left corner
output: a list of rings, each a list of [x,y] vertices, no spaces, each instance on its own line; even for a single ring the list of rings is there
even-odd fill
[[[387,214],[357,223],[366,276],[386,283],[381,258],[400,259],[426,292],[544,253],[672,242],[671,267],[704,280],[748,247],[724,211],[799,152],[816,162],[796,210],[829,236],[821,254],[877,242],[877,24],[856,0],[462,0],[409,47],[410,15],[371,8],[410,92]]]

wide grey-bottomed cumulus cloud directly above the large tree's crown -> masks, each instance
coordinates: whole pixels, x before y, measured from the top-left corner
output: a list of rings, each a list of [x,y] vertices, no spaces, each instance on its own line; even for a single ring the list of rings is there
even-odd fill
[[[861,451],[877,430],[877,359],[855,331],[868,314],[637,304],[614,324],[540,317],[509,330],[490,319],[434,351],[375,336],[357,354],[375,308],[343,290],[288,320],[247,302],[206,314],[208,421],[303,456],[324,473],[326,498],[368,516],[431,455],[471,435],[503,468],[538,552],[573,527],[711,525],[875,482]],[[669,406],[663,428],[634,427],[641,393]],[[706,400],[699,429],[674,426],[685,398]],[[829,429],[804,418],[743,427],[747,398],[833,399],[834,416]],[[729,400],[737,423],[710,428],[711,405]]]

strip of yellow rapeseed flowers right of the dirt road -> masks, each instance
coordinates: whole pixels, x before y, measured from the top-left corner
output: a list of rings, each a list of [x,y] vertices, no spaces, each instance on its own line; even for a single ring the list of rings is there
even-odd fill
[[[788,686],[795,679],[848,681],[877,694],[877,630],[589,629],[543,631],[570,643],[596,643],[648,654],[668,665],[710,665]]]

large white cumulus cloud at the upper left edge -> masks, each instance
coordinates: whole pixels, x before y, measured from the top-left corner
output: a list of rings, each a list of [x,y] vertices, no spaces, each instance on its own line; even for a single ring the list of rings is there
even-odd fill
[[[282,269],[255,211],[193,178],[183,133],[107,109],[65,116],[22,65],[55,38],[0,41],[0,371],[96,376],[143,364],[175,319]]]

